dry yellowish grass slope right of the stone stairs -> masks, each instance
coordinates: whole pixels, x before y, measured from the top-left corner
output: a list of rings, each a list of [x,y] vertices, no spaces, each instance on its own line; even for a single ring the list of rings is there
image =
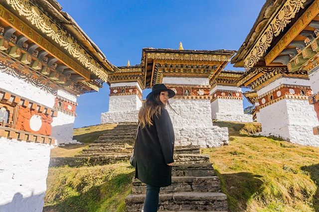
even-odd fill
[[[202,152],[210,155],[231,211],[318,212],[319,148],[236,136]]]

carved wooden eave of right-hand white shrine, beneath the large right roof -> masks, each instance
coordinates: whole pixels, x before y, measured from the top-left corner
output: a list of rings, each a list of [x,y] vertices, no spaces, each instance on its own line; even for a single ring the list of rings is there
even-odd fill
[[[258,90],[281,77],[309,79],[307,71],[290,73],[287,68],[252,68],[237,80],[237,86]]]

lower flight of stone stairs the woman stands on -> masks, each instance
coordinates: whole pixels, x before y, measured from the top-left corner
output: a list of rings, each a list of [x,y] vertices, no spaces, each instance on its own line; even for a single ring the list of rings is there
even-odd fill
[[[227,211],[219,178],[199,146],[176,146],[174,160],[172,184],[160,189],[160,212]],[[126,198],[127,212],[141,212],[145,194],[146,185],[133,179],[132,194]]]

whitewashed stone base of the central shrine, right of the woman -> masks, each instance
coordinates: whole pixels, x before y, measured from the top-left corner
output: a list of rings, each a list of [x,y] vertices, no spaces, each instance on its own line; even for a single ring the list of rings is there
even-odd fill
[[[175,146],[200,145],[203,148],[228,144],[227,127],[174,127]]]

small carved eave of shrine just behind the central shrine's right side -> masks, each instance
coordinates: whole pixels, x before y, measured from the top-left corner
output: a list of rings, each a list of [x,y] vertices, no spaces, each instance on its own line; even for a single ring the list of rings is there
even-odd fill
[[[229,71],[222,70],[216,78],[210,82],[211,86],[225,85],[225,86],[237,86],[237,81],[240,79],[245,72],[242,71]]]

